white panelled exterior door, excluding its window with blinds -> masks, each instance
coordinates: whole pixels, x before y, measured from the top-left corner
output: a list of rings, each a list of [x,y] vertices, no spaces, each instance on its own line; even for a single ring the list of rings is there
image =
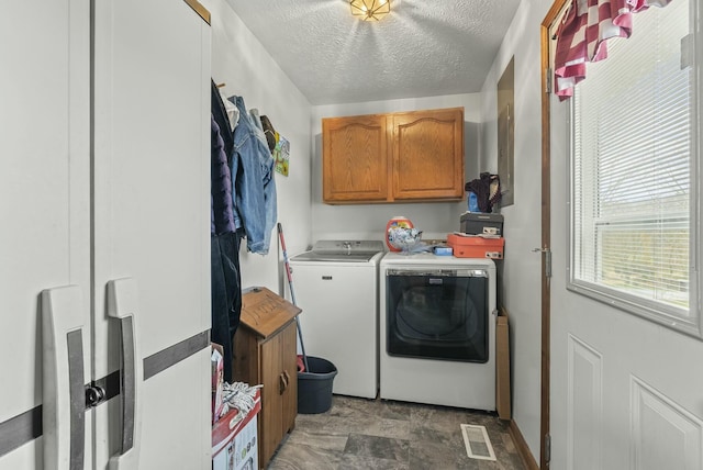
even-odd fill
[[[691,0],[691,8],[695,3]],[[684,0],[679,2],[679,7],[689,8],[688,4]],[[670,13],[667,10],[676,7],[674,1],[660,11],[651,9],[651,13]],[[634,35],[627,41],[648,34],[641,27],[638,30],[637,15]],[[691,14],[691,18],[696,16]],[[700,27],[698,24],[696,31],[700,32]],[[674,41],[679,42],[688,32],[667,34],[676,35]],[[687,40],[682,43],[685,45]],[[703,48],[700,35],[698,46],[700,79]],[[554,261],[550,468],[700,470],[703,468],[703,342],[567,290],[569,104],[559,103],[553,97],[550,109]],[[693,134],[701,135],[700,122]],[[694,160],[700,161],[698,152]],[[693,269],[698,269],[695,262],[693,265]],[[691,309],[701,312],[700,303],[692,302]]]

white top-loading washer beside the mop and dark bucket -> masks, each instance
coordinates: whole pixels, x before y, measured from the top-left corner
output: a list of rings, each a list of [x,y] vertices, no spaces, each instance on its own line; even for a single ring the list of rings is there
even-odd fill
[[[335,365],[335,394],[378,395],[378,265],[383,249],[380,240],[320,240],[289,261],[305,352]]]

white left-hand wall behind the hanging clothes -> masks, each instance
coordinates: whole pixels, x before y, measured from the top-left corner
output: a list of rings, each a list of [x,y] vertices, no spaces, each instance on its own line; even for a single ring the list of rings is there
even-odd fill
[[[276,131],[290,142],[290,172],[276,174],[278,221],[289,254],[310,243],[310,102],[224,0],[202,0],[212,24],[212,77],[226,83],[227,96],[244,98],[247,109],[266,114]],[[246,242],[243,242],[245,245]],[[239,251],[242,286],[264,286],[283,292],[278,233],[271,233],[267,256]]]

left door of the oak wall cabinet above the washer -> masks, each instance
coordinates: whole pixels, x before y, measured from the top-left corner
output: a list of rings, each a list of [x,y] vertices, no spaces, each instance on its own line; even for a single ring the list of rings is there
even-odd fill
[[[322,186],[327,203],[386,201],[389,188],[387,118],[322,121]]]

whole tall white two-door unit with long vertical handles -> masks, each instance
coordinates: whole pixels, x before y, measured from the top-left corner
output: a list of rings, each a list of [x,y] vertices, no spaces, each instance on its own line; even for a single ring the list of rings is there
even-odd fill
[[[211,466],[196,9],[41,0],[0,15],[0,470]],[[89,392],[105,396],[87,406]]]

